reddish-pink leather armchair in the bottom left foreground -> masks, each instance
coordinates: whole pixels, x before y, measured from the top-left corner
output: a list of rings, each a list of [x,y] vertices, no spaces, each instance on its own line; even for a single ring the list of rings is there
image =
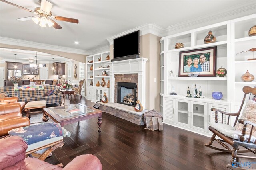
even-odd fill
[[[77,156],[61,168],[37,158],[25,158],[27,148],[27,143],[21,137],[0,139],[0,170],[102,170],[100,160],[92,154]]]

